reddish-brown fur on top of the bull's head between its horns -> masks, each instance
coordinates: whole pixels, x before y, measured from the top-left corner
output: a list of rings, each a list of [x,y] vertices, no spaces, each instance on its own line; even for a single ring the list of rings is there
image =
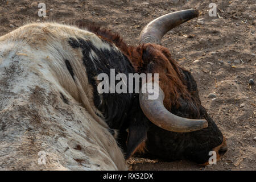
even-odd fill
[[[171,59],[167,48],[155,44],[129,47],[129,59],[138,73],[159,73],[159,85],[165,94],[164,106],[168,110],[171,110],[172,105],[179,106],[179,97],[191,99],[180,67]]]

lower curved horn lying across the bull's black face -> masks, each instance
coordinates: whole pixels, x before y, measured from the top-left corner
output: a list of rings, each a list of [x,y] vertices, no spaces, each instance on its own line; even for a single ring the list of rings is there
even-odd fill
[[[141,92],[139,94],[139,104],[146,117],[156,126],[179,133],[201,130],[208,127],[205,119],[182,118],[170,113],[163,105],[164,92],[160,87],[158,99],[148,100],[149,95],[148,92],[145,94]]]

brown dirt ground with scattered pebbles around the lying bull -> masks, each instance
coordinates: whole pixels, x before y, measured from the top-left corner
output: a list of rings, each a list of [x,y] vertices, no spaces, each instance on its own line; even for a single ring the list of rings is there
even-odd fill
[[[208,14],[216,3],[216,17]],[[46,17],[38,16],[38,3],[46,4]],[[229,150],[212,166],[187,161],[129,160],[134,170],[255,170],[256,98],[255,0],[0,0],[0,36],[24,23],[84,20],[107,27],[131,45],[143,26],[172,11],[197,8],[200,17],[168,32],[162,40],[173,57],[190,70],[199,86],[203,105],[225,135]],[[216,98],[208,98],[214,93]]]

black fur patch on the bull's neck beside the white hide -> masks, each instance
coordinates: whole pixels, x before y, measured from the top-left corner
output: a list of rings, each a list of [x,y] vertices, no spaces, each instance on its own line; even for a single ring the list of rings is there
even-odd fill
[[[110,128],[120,129],[130,110],[133,94],[103,93],[100,97],[97,91],[97,80],[95,79],[100,73],[106,73],[109,76],[110,83],[110,69],[115,69],[115,75],[125,73],[128,78],[129,73],[135,73],[129,59],[110,43],[108,43],[109,50],[98,49],[92,42],[84,39],[78,39],[77,41],[69,38],[68,42],[73,48],[81,48],[82,50],[82,61],[85,65],[89,84],[93,86],[94,105],[104,114],[105,121]],[[107,43],[105,40],[102,40],[102,42]],[[97,55],[97,58],[90,55],[92,52]],[[129,88],[129,85],[127,85],[127,88]]]

